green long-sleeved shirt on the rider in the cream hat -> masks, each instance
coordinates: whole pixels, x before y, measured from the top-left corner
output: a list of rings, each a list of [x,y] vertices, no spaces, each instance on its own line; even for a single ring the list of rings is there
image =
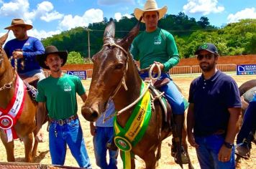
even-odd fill
[[[140,60],[141,69],[156,61],[164,64],[164,71],[168,72],[180,61],[173,35],[160,28],[139,34],[132,42],[130,52],[135,60]]]

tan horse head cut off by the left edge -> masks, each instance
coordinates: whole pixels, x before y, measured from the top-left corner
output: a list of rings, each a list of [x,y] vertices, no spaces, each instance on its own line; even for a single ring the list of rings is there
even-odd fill
[[[11,67],[11,64],[9,64],[9,60],[3,49],[3,45],[4,42],[6,42],[6,39],[8,38],[8,34],[9,32],[0,37],[0,77],[2,74],[4,74],[6,69],[10,69]]]

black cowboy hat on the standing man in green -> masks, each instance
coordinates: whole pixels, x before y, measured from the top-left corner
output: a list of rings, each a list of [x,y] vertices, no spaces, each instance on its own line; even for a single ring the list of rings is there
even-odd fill
[[[45,47],[45,54],[37,54],[36,56],[37,62],[39,63],[40,67],[44,69],[50,69],[50,67],[47,67],[45,64],[45,60],[49,54],[58,54],[60,58],[63,59],[63,64],[61,64],[62,67],[65,64],[65,62],[67,62],[67,59],[68,59],[67,51],[58,51],[57,47],[48,46],[48,47]]]

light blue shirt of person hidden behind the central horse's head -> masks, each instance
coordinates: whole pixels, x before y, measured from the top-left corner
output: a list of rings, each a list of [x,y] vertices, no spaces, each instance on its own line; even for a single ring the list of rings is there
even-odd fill
[[[103,112],[101,114],[99,119],[96,121],[96,126],[98,126],[98,127],[113,127],[114,126],[114,116],[111,117],[109,120],[106,120],[105,122],[103,122],[103,120],[104,120],[104,114],[105,114],[105,119],[106,119],[110,115],[113,115],[114,112],[115,112],[114,102],[113,102],[113,100],[111,100],[111,102],[109,102],[109,107],[106,109],[106,114],[105,114],[105,112]]]

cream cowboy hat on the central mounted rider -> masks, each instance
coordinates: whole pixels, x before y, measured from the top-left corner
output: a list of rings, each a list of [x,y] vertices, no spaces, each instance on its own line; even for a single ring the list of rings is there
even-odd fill
[[[159,20],[163,18],[163,16],[166,14],[167,6],[163,6],[163,8],[157,8],[157,2],[155,0],[147,0],[144,9],[134,9],[134,16],[137,20],[140,20],[140,17],[143,15],[145,11],[158,11],[159,14]],[[145,22],[144,19],[142,19],[142,22]]]

